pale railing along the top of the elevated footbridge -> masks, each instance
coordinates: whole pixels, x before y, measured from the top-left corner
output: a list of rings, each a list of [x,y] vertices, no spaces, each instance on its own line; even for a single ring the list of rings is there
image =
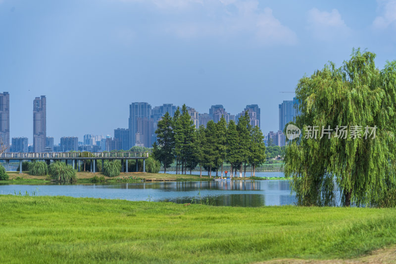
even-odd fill
[[[148,152],[52,152],[0,154],[0,159],[51,159],[51,158],[148,158]]]

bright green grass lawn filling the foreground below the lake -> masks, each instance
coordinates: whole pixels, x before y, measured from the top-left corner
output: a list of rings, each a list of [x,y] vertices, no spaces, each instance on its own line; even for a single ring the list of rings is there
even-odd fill
[[[334,259],[396,243],[395,209],[0,196],[0,211],[0,263]]]

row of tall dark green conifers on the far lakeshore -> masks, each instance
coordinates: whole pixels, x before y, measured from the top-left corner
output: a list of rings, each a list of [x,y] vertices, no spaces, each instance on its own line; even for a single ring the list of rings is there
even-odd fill
[[[159,160],[166,173],[166,168],[176,160],[176,174],[186,174],[199,166],[202,176],[202,167],[212,176],[221,171],[223,163],[231,164],[230,176],[246,175],[246,166],[253,167],[253,176],[256,166],[265,161],[264,136],[258,126],[250,125],[247,111],[236,124],[233,120],[227,124],[224,116],[214,123],[210,120],[204,126],[196,129],[188,112],[183,105],[178,107],[173,117],[168,112],[158,121],[155,131],[157,142],[153,144],[154,158]],[[244,173],[242,173],[244,168]]]

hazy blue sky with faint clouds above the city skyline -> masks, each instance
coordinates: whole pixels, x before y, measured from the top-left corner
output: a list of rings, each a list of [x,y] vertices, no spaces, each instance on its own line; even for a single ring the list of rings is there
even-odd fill
[[[10,137],[32,143],[41,95],[54,143],[113,136],[132,102],[257,104],[268,133],[304,75],[352,48],[396,59],[396,0],[0,0],[0,36]]]

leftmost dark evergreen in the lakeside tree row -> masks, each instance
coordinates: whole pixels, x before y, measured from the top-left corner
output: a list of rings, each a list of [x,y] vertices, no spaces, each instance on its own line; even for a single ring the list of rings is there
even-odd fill
[[[168,112],[166,112],[162,119],[158,121],[155,134],[157,134],[158,144],[153,144],[154,157],[163,164],[164,173],[166,173],[166,168],[169,168],[173,162],[173,150],[175,146],[172,131],[172,118]]]

